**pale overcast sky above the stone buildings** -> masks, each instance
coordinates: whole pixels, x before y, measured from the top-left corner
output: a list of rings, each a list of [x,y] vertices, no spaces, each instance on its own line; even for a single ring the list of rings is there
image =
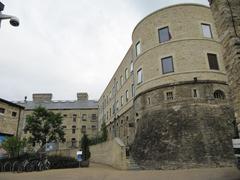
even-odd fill
[[[177,3],[207,0],[0,0],[15,28],[0,29],[0,98],[31,99],[53,93],[74,100],[88,92],[98,100],[131,45],[136,24]]]

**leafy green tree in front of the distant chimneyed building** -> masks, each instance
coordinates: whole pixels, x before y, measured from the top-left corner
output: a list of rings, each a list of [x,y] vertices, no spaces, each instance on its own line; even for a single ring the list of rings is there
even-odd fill
[[[39,106],[26,117],[24,131],[31,133],[29,142],[33,145],[39,144],[41,149],[46,143],[65,141],[62,121],[63,117],[60,113],[55,114]]]

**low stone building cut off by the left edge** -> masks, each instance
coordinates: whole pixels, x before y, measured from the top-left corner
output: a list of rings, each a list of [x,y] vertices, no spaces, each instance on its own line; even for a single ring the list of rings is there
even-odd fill
[[[24,107],[0,98],[0,144],[7,137],[21,136]],[[0,157],[4,151],[0,149]]]

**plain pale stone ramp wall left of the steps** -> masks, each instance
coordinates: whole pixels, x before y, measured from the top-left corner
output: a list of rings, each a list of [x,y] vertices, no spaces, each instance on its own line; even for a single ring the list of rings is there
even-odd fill
[[[119,138],[90,146],[91,162],[106,164],[117,169],[127,169],[126,148]]]

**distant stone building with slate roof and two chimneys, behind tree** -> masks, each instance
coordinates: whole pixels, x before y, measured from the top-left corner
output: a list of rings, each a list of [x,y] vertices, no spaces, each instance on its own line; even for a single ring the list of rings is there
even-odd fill
[[[42,106],[63,116],[65,143],[59,144],[60,149],[79,147],[82,135],[86,133],[89,138],[97,135],[98,104],[97,101],[88,100],[87,93],[78,93],[77,100],[53,101],[52,94],[33,94],[33,101],[18,102],[25,107],[22,130],[25,127],[26,116],[36,107]],[[28,133],[22,137],[29,136]]]

